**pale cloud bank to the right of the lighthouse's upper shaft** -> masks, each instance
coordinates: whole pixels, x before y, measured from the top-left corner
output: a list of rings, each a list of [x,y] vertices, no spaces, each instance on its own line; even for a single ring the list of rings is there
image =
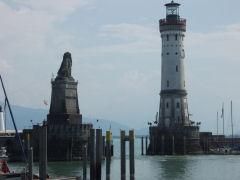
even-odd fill
[[[220,27],[216,32],[186,34],[186,54],[193,58],[238,60],[240,24]]]

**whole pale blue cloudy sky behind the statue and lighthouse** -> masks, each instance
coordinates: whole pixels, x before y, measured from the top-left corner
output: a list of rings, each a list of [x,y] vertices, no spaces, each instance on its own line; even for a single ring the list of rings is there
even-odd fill
[[[45,108],[51,77],[71,52],[81,113],[147,127],[159,106],[167,0],[0,0],[0,73],[12,104]],[[185,40],[189,112],[201,131],[240,133],[240,1],[178,0]],[[1,93],[1,92],[0,92]],[[3,101],[2,93],[0,100]],[[219,124],[222,119],[219,117]],[[222,131],[222,127],[219,127]]]

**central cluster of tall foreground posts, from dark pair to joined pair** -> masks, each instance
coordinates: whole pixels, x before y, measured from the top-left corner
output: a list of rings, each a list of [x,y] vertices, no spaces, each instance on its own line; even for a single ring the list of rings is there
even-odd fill
[[[126,135],[125,131],[121,130],[121,180],[126,180],[126,141],[129,141],[129,168],[130,168],[130,180],[135,180],[135,159],[134,159],[134,130],[129,131],[129,136]],[[101,180],[102,172],[102,145],[101,143],[102,130],[96,129],[90,131],[90,180]],[[96,139],[96,143],[95,143]],[[96,144],[96,147],[95,147]],[[111,132],[106,132],[106,180],[110,180],[110,163],[111,163]],[[86,168],[84,168],[86,169]],[[86,177],[83,176],[86,180]]]

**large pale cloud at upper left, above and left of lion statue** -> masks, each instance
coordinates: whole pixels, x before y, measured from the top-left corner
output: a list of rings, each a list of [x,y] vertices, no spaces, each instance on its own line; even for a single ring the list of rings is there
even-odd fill
[[[0,2],[0,71],[7,77],[6,87],[15,104],[42,107],[42,97],[50,94],[51,72],[75,40],[59,27],[87,2],[90,0]]]

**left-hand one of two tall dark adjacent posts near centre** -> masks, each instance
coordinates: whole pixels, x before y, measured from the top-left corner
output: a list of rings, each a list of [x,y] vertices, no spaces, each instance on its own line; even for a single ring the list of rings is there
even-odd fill
[[[96,178],[95,129],[90,129],[90,180]]]

